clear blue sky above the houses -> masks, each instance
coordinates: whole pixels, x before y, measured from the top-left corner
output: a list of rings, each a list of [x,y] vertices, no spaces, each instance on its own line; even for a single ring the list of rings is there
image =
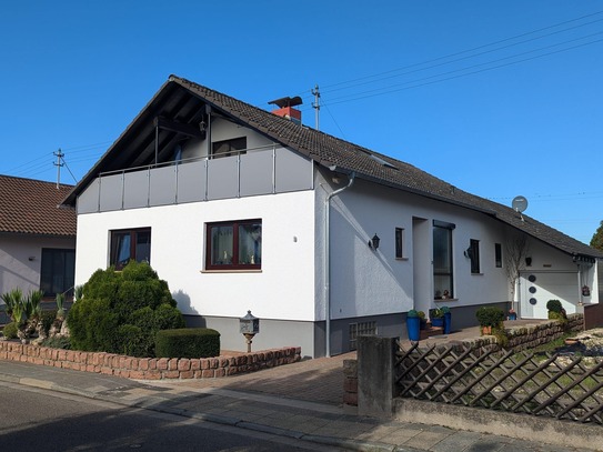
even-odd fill
[[[2,1],[0,173],[74,183],[170,73],[583,242],[603,220],[603,0]],[[71,175],[71,173],[72,175]]]

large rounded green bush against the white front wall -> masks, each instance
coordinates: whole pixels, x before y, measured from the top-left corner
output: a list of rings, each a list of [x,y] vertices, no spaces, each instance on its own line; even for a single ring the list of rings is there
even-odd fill
[[[148,263],[97,270],[67,317],[76,350],[153,356],[159,330],[183,328],[168,283]]]

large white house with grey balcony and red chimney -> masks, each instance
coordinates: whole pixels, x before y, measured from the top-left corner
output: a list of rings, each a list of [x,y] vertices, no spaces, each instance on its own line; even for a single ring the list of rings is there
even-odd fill
[[[462,328],[483,304],[545,318],[551,298],[567,312],[599,302],[601,252],[303,125],[299,99],[271,103],[171,76],[63,200],[78,213],[76,282],[149,261],[223,348],[245,350],[251,310],[255,349],[310,356],[405,335],[411,309],[448,305]]]

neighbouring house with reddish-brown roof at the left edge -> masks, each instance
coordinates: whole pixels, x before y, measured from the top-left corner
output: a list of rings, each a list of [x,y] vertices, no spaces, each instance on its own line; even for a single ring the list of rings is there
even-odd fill
[[[43,290],[71,294],[76,274],[76,212],[59,208],[73,189],[0,175],[0,294]],[[4,323],[0,300],[0,323]]]

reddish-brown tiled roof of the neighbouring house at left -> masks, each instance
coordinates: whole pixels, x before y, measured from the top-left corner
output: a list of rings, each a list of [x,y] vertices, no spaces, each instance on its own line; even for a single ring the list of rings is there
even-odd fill
[[[73,185],[0,175],[0,233],[76,237],[76,212],[60,209]]]

